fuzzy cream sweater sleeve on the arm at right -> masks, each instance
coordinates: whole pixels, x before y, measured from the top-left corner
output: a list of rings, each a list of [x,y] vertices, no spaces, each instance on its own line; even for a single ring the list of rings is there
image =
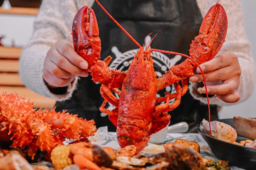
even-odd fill
[[[205,16],[210,7],[216,2],[217,1],[213,0],[197,0],[202,16]],[[256,79],[251,46],[245,35],[242,6],[240,0],[219,0],[218,3],[224,7],[228,18],[228,31],[220,51],[229,51],[238,57],[240,68],[242,70],[238,88],[238,93],[240,94],[240,100],[238,102],[242,102],[253,93]],[[200,83],[191,83],[189,87],[190,93],[195,99],[206,104],[207,99],[196,91],[197,88],[200,87],[199,84]],[[210,98],[210,103],[220,106],[232,104],[223,102],[215,96]]]

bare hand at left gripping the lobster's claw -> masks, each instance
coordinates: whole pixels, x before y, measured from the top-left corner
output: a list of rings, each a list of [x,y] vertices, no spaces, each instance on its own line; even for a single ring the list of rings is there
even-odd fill
[[[62,39],[48,50],[44,60],[43,77],[51,88],[65,87],[75,76],[87,77],[87,68],[87,61],[75,52],[73,44]]]

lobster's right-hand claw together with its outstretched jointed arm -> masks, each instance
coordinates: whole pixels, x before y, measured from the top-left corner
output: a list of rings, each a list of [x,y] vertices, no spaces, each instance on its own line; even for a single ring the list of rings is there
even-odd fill
[[[227,15],[220,4],[216,4],[207,12],[199,35],[190,44],[189,54],[199,65],[211,60],[224,43],[227,33]],[[163,50],[152,49],[167,54],[174,54]],[[196,63],[186,59],[183,63],[172,66],[166,74],[157,79],[157,90],[161,90],[170,84],[194,75]]]

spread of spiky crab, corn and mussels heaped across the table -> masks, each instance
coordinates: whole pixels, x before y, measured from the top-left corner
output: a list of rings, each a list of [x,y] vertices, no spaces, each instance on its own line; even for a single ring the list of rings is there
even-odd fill
[[[93,120],[65,110],[33,109],[15,93],[0,95],[0,103],[0,170],[229,169],[227,161],[203,158],[194,141],[177,139],[149,155],[138,153],[135,145],[100,147],[88,140],[96,132]],[[67,139],[74,140],[64,144]]]

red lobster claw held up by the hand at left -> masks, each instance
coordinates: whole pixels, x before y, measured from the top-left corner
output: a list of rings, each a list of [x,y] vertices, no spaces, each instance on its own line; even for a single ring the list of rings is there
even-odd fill
[[[88,6],[77,11],[73,20],[72,35],[74,50],[88,62],[90,71],[91,66],[96,65],[100,59],[101,44],[95,13]]]

